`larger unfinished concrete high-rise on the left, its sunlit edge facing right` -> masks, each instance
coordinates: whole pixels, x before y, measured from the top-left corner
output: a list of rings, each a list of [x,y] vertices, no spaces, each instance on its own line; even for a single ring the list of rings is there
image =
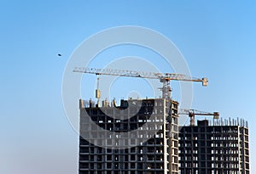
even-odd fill
[[[177,174],[178,103],[80,100],[79,174]]]

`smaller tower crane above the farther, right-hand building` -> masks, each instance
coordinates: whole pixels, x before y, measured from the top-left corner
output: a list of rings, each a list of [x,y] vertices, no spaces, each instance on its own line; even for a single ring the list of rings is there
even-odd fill
[[[208,112],[204,112],[196,109],[179,109],[178,115],[189,115],[190,126],[195,126],[195,115],[212,115],[213,119],[219,119],[218,112],[208,113]]]

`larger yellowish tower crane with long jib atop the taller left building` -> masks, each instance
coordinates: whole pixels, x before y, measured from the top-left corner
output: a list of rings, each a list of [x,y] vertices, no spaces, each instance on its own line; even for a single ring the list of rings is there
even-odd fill
[[[171,85],[170,81],[198,81],[202,82],[202,86],[206,87],[208,84],[208,79],[203,78],[194,78],[191,76],[185,76],[182,74],[175,73],[160,73],[160,72],[144,72],[144,71],[135,71],[135,70],[113,70],[113,69],[97,69],[97,68],[83,68],[76,67],[73,72],[80,73],[89,73],[99,75],[108,75],[108,76],[128,76],[128,77],[138,77],[138,78],[148,78],[148,79],[159,79],[163,83],[162,89],[162,98],[170,99],[171,98]],[[97,89],[98,90],[98,89]],[[96,98],[100,93],[96,90]]]

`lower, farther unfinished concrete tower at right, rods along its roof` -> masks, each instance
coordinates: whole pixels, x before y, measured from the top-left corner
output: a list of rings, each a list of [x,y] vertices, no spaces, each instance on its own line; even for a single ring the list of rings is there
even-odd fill
[[[247,122],[204,120],[180,128],[181,174],[249,174]]]

